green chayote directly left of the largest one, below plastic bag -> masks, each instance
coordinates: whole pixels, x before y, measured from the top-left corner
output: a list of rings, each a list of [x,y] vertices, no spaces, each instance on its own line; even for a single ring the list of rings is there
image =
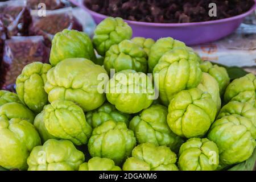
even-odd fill
[[[46,84],[46,74],[51,68],[51,65],[41,62],[28,64],[16,80],[19,99],[35,113],[40,113],[48,102],[44,84]]]

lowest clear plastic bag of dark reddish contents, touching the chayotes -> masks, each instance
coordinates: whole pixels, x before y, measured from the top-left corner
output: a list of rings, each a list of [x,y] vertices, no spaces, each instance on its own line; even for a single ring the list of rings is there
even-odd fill
[[[25,65],[34,61],[48,63],[48,60],[49,48],[44,44],[43,36],[13,36],[5,41],[0,87],[15,90],[16,77]]]

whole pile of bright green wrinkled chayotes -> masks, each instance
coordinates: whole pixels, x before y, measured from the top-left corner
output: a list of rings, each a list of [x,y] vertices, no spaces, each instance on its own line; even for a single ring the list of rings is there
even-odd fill
[[[24,67],[17,94],[0,91],[0,166],[203,171],[249,159],[256,145],[255,75],[230,81],[225,68],[202,61],[183,42],[131,37],[131,27],[111,17],[92,40],[75,30],[56,34],[50,64]],[[148,88],[147,73],[158,84]],[[121,74],[146,82],[124,82]],[[98,92],[99,84],[143,92]]]

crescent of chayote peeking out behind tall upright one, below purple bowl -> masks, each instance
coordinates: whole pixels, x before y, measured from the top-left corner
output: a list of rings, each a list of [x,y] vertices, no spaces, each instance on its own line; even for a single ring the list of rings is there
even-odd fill
[[[148,54],[148,70],[150,73],[153,72],[155,65],[158,64],[160,58],[164,53],[171,51],[175,48],[187,48],[185,43],[175,40],[173,38],[161,38],[152,45],[150,52]]]

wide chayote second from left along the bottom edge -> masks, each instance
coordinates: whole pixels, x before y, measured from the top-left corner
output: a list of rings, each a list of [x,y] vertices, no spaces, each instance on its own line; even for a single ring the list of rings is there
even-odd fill
[[[27,159],[28,171],[77,171],[84,154],[69,140],[49,139],[33,148]]]

